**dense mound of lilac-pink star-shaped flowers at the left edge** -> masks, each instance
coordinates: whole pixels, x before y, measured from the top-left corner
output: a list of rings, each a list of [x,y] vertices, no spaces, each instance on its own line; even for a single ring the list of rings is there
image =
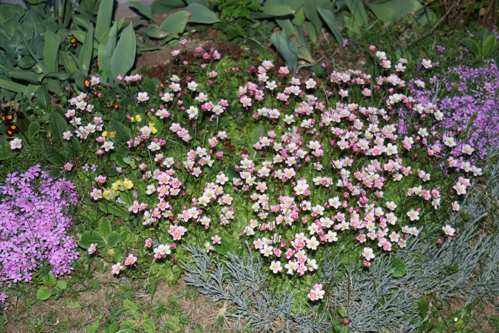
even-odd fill
[[[29,282],[38,266],[50,267],[54,276],[70,273],[79,258],[73,236],[67,236],[73,224],[68,210],[78,201],[74,184],[49,177],[39,165],[9,173],[2,183],[1,284]]]

